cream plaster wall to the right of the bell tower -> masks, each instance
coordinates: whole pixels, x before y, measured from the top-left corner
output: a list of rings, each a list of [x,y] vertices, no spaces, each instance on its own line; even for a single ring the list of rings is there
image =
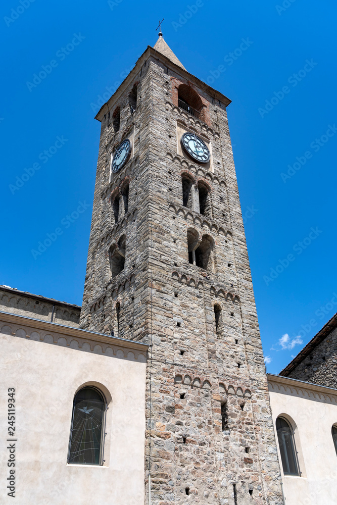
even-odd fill
[[[277,388],[277,386],[276,386]],[[282,386],[281,386],[282,389]],[[334,449],[331,427],[337,423],[335,396],[332,402],[314,399],[310,391],[293,390],[285,386],[287,393],[270,390],[270,404],[276,434],[278,416],[288,417],[295,424],[295,441],[298,451],[301,477],[284,476],[279,447],[278,457],[282,473],[285,505],[335,505],[337,503],[337,456]],[[284,388],[283,388],[284,390]]]

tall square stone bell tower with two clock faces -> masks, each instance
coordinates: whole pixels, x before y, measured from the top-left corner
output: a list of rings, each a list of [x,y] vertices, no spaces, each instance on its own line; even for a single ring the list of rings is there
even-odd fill
[[[156,505],[283,503],[229,103],[160,33],[96,117],[80,327],[152,344]]]

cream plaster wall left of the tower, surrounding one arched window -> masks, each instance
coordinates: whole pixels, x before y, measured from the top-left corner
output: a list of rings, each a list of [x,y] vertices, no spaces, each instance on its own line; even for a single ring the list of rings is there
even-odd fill
[[[0,334],[0,503],[143,505],[146,364]],[[67,465],[73,397],[111,395],[104,466]],[[15,387],[15,501],[7,495],[7,400]],[[5,417],[6,416],[6,417]]]

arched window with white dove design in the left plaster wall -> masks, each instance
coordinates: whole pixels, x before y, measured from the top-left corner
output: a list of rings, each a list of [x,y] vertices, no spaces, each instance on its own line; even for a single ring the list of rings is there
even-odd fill
[[[106,401],[98,389],[80,389],[73,403],[68,463],[103,464],[103,434]]]

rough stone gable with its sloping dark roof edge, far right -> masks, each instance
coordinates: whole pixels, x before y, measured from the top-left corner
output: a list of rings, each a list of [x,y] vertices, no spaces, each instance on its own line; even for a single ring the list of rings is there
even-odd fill
[[[337,388],[337,314],[279,375]]]

